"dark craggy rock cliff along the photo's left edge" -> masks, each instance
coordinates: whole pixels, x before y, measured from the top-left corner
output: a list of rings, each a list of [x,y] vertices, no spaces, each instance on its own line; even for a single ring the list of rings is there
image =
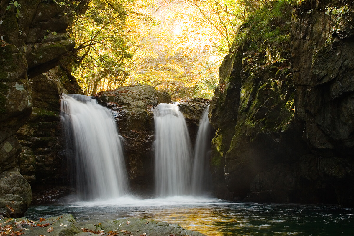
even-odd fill
[[[55,1],[0,1],[0,215],[22,216],[30,204],[31,188],[17,165],[21,145],[15,134],[40,102],[33,97],[35,76],[55,67],[74,47],[66,28],[67,18]],[[34,171],[30,165],[27,179]]]

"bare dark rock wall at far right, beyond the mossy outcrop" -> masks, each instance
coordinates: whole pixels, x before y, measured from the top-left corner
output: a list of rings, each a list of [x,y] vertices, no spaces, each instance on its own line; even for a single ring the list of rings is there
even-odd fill
[[[354,43],[349,40],[354,37],[354,6],[344,7],[341,1],[334,5],[343,12],[315,9],[294,18],[295,105],[306,123],[303,136],[318,157],[322,179],[333,186],[339,203],[353,206],[348,183],[354,176]]]

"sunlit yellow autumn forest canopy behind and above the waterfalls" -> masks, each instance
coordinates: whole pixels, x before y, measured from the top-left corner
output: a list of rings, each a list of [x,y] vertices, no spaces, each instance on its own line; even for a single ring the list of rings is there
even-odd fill
[[[284,1],[284,0],[280,0]],[[270,0],[65,0],[85,94],[135,84],[173,100],[211,98],[218,69],[250,12]],[[270,11],[272,13],[272,11]]]

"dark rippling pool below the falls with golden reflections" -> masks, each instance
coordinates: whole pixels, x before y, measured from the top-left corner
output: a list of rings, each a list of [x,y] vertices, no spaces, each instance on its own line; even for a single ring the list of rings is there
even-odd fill
[[[139,217],[177,223],[209,236],[354,235],[354,211],[334,205],[258,204],[213,198],[170,197],[140,200],[75,202],[32,206],[25,217],[38,220],[72,214],[79,224]]]

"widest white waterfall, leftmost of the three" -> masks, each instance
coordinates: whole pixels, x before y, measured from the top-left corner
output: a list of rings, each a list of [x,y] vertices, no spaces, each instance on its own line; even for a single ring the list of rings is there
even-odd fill
[[[124,146],[110,111],[79,94],[62,94],[61,109],[67,158],[74,159],[71,163],[79,198],[109,199],[126,194]]]

